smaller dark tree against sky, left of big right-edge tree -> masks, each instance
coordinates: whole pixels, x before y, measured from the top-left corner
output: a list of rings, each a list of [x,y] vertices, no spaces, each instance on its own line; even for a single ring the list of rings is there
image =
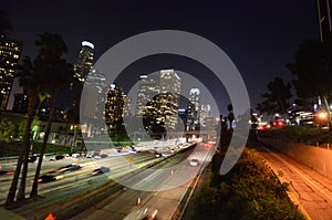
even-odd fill
[[[291,84],[284,84],[282,78],[274,77],[273,81],[268,83],[267,87],[269,92],[262,94],[264,99],[258,105],[258,109],[261,113],[284,114],[290,107]]]

